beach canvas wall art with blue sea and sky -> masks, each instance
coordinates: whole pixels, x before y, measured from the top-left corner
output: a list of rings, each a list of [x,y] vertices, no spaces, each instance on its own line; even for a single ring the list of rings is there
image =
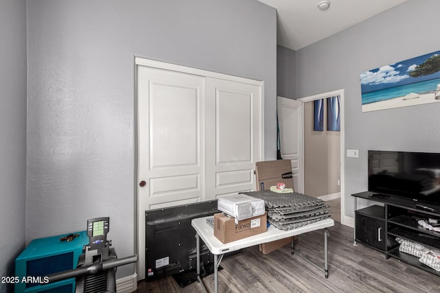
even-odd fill
[[[362,112],[440,102],[440,51],[360,73]]]

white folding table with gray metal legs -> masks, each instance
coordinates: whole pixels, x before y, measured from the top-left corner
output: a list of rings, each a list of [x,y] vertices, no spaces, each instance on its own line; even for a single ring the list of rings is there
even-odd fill
[[[192,227],[196,231],[196,240],[197,240],[197,281],[201,283],[203,290],[205,292],[206,288],[201,281],[200,277],[200,241],[202,239],[206,244],[206,247],[210,250],[212,255],[214,255],[214,291],[218,292],[218,274],[219,274],[219,266],[221,259],[223,259],[223,255],[225,253],[231,253],[232,251],[239,250],[241,248],[247,248],[254,245],[259,245],[267,242],[272,242],[278,239],[283,239],[291,236],[300,235],[303,233],[316,231],[320,229],[324,229],[324,272],[325,278],[329,277],[328,270],[328,260],[327,260],[327,235],[329,235],[327,228],[334,226],[335,222],[332,219],[325,219],[318,222],[314,222],[311,224],[307,224],[305,226],[294,228],[291,230],[280,230],[275,226],[271,225],[267,228],[265,233],[261,233],[258,235],[254,235],[251,237],[247,237],[244,239],[240,239],[234,242],[223,244],[220,242],[217,237],[214,236],[214,228],[206,222],[206,219],[212,218],[212,216],[197,218],[191,221]],[[312,263],[317,266],[315,263]],[[317,266],[318,267],[318,266]],[[318,267],[319,268],[319,267]]]

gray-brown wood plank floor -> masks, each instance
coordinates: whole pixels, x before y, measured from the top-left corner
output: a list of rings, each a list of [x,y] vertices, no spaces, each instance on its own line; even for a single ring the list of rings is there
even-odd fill
[[[329,228],[329,278],[298,255],[289,245],[268,255],[258,246],[223,259],[219,292],[440,292],[440,277],[358,244],[353,246],[353,228],[335,222]],[[324,266],[324,233],[299,236],[296,250]],[[214,275],[203,278],[214,292]],[[138,293],[203,292],[199,283],[179,288],[173,277],[138,282]]]

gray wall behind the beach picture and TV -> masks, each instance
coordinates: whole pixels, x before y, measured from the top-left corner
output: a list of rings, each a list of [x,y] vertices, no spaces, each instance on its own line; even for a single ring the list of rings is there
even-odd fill
[[[439,152],[440,103],[362,113],[360,73],[440,49],[440,1],[409,0],[296,52],[296,97],[344,89],[345,215],[367,189],[367,150]]]

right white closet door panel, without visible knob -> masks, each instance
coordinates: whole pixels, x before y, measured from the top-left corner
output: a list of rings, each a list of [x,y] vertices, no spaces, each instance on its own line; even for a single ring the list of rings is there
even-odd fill
[[[206,196],[255,188],[262,159],[261,86],[206,78]]]

